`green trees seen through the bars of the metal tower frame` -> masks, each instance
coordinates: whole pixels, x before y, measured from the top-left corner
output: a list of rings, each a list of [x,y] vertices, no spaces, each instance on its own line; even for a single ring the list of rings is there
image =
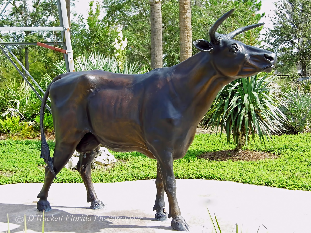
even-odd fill
[[[4,6],[6,3],[7,1],[0,0],[1,6]],[[6,10],[0,16],[0,26],[59,26],[59,21],[57,19],[58,9],[56,0],[15,0],[10,2]],[[61,34],[56,34],[56,32],[52,31],[2,31],[0,37],[5,42],[61,40]],[[52,50],[39,46],[22,45],[10,46],[10,48],[36,80],[40,80],[42,75],[46,72],[51,75],[51,64],[62,57],[58,52],[53,52]],[[6,73],[10,75],[13,73],[20,77],[12,65],[2,66],[0,69],[3,71],[2,74],[6,80],[10,80]]]

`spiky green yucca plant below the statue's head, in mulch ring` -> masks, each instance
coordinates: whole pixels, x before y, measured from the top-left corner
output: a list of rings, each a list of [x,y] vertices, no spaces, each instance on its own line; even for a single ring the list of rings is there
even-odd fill
[[[261,142],[269,141],[271,131],[278,131],[276,125],[282,124],[279,116],[283,116],[275,105],[276,90],[267,87],[273,80],[273,76],[258,78],[255,75],[223,87],[204,118],[210,119],[207,127],[217,126],[218,130],[220,125],[220,136],[224,129],[228,141],[232,133],[237,152],[248,143],[250,135],[254,141],[255,131]]]

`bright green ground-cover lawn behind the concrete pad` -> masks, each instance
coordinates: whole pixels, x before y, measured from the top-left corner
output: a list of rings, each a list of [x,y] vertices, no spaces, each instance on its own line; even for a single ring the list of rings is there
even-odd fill
[[[197,156],[218,150],[234,149],[225,137],[196,135],[183,159],[174,161],[176,178],[215,179],[272,187],[311,190],[311,134],[273,136],[273,142],[260,144],[256,139],[249,150],[278,155],[277,159],[259,161],[210,161]],[[49,142],[51,154],[55,143]],[[38,140],[0,141],[0,184],[43,182],[44,166]],[[92,172],[93,182],[119,182],[155,179],[156,161],[137,153],[111,152],[117,159],[113,168]],[[63,169],[54,182],[82,182],[76,170]]]

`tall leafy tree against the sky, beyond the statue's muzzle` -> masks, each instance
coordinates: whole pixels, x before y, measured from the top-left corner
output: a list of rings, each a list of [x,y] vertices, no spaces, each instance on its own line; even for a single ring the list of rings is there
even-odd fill
[[[289,73],[300,63],[306,75],[311,65],[311,2],[309,0],[282,0],[275,3],[275,17],[266,34],[266,43],[277,54],[277,69]]]

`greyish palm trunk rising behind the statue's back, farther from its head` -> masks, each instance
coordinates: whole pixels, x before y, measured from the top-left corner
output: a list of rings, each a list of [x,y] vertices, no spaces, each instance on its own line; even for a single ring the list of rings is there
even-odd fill
[[[163,67],[161,0],[149,0],[151,24],[151,68]]]

